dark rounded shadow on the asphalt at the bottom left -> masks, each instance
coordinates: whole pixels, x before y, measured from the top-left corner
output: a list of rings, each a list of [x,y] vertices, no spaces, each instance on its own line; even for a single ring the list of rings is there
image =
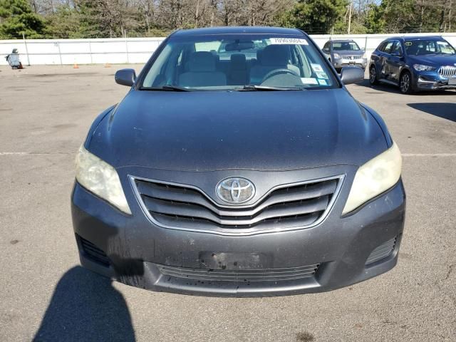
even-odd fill
[[[135,341],[130,311],[112,281],[81,266],[62,276],[33,341]]]

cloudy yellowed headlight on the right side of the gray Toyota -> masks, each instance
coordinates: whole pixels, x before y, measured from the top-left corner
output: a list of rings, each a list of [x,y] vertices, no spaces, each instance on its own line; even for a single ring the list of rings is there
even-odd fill
[[[399,180],[401,168],[402,156],[398,145],[393,142],[393,146],[388,150],[358,169],[342,214],[351,212],[393,187]]]

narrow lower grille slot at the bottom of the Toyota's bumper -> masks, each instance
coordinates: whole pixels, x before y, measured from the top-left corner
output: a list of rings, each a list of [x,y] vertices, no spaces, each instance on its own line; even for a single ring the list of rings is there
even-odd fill
[[[190,269],[157,265],[160,273],[176,278],[200,281],[285,281],[314,276],[320,264],[286,269]]]

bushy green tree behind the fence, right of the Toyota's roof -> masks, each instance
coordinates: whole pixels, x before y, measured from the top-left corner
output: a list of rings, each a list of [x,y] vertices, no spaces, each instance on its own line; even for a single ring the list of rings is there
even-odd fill
[[[347,0],[299,0],[289,21],[307,33],[329,33],[347,6]]]

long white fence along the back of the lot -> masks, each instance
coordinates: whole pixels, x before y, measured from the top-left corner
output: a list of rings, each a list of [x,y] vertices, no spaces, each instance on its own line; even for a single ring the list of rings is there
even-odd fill
[[[410,33],[410,34],[351,34],[311,36],[323,47],[330,37],[350,38],[356,41],[366,54],[371,56],[378,44],[392,36],[442,36],[456,46],[456,33]],[[0,56],[19,50],[24,65],[145,63],[165,38],[96,38],[96,39],[33,39],[0,41]],[[0,64],[6,64],[0,57]]]

